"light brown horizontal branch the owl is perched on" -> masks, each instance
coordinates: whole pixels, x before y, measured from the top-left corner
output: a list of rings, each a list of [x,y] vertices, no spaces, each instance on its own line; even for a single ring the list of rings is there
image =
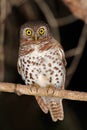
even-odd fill
[[[0,83],[1,92],[16,93],[18,95],[52,96],[62,99],[87,101],[87,92],[58,90],[52,87],[41,88],[37,85],[21,85],[14,83]]]

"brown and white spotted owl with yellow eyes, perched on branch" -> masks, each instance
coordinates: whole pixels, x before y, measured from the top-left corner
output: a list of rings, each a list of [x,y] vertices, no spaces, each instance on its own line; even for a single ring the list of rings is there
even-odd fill
[[[64,89],[65,55],[60,43],[53,38],[49,27],[43,22],[30,22],[21,27],[18,72],[25,84]],[[35,96],[44,113],[52,120],[63,120],[62,99]]]

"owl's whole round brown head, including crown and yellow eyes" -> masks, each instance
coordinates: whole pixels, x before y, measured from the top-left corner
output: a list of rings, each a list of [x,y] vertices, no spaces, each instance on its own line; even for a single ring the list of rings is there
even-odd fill
[[[49,27],[43,22],[28,22],[20,30],[20,38],[33,43],[47,40],[50,36]]]

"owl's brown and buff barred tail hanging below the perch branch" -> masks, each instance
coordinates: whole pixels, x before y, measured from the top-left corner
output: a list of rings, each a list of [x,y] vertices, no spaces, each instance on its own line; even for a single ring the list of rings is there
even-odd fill
[[[58,102],[51,101],[49,104],[49,111],[53,121],[56,122],[57,120],[63,120],[64,113],[63,113],[62,100],[59,99]]]

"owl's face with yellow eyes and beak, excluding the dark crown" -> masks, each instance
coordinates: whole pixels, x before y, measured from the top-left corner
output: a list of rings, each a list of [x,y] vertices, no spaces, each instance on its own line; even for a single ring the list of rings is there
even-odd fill
[[[39,27],[24,27],[21,30],[21,37],[25,39],[25,41],[31,41],[35,44],[41,42],[41,40],[45,39],[48,35],[48,29],[46,26],[39,26]]]

